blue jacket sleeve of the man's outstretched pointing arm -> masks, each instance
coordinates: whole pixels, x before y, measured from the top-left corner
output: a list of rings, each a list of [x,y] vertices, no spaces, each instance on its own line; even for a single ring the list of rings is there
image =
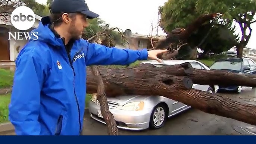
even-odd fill
[[[88,43],[85,41],[85,43]],[[129,50],[88,43],[86,65],[129,65],[137,60],[147,60],[147,49]]]

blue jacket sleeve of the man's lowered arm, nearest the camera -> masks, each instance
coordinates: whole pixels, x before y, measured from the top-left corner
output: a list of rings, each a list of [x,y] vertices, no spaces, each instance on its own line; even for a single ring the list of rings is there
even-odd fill
[[[22,50],[16,60],[9,120],[17,135],[40,135],[38,114],[44,81],[43,59],[34,50]]]

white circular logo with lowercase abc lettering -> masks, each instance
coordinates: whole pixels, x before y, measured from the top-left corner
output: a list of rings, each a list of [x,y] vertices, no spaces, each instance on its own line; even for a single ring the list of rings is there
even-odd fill
[[[27,30],[35,23],[35,13],[29,7],[19,6],[13,10],[11,22],[16,29]]]

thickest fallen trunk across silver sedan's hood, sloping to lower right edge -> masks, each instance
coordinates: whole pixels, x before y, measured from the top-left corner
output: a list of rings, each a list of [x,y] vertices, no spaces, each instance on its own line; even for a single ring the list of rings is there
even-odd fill
[[[197,70],[193,70],[191,74],[189,67],[190,65],[175,65],[169,68],[156,68],[145,65],[126,69],[101,67],[100,73],[105,84],[105,93],[108,97],[120,95],[160,95],[180,101],[206,113],[256,125],[255,105],[241,104],[229,98],[193,88],[190,89],[188,86],[189,83],[192,83],[191,79],[201,79],[202,73],[198,73],[198,76],[193,76],[197,75],[194,73]],[[205,70],[203,75],[206,75],[207,72]],[[170,73],[176,73],[179,76],[174,76]],[[191,79],[187,76],[181,76],[181,73],[183,75],[191,75]],[[224,78],[222,78],[222,81],[225,81]],[[195,82],[193,81],[193,83]],[[91,72],[91,69],[87,69],[87,93],[97,93],[97,79]]]

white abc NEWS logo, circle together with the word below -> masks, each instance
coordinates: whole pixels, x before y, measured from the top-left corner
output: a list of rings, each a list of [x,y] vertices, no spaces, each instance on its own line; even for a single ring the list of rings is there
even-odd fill
[[[13,10],[11,15],[12,25],[20,31],[26,31],[35,24],[35,13],[32,9],[26,6],[19,6]],[[14,38],[15,40],[37,40],[37,32],[8,32],[9,40]]]

